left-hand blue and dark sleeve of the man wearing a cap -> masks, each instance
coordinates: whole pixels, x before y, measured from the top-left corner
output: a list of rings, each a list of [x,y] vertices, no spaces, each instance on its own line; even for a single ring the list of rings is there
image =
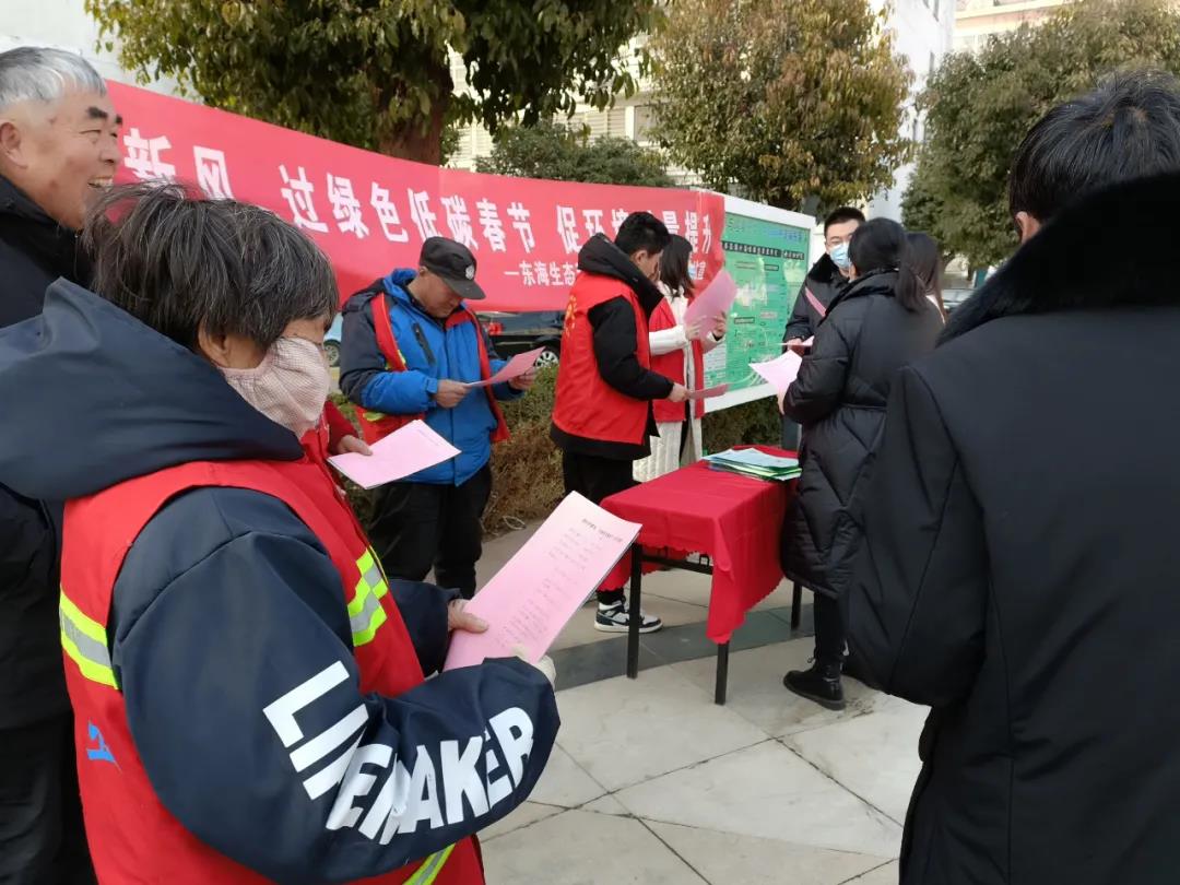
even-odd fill
[[[345,304],[340,341],[340,389],[362,408],[391,415],[417,415],[434,408],[438,379],[421,372],[387,372],[373,328],[373,296]]]

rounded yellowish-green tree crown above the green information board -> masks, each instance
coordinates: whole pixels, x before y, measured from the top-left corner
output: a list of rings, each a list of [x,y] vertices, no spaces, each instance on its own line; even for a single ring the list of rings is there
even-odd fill
[[[680,0],[654,39],[673,159],[786,209],[892,184],[911,76],[866,0]]]

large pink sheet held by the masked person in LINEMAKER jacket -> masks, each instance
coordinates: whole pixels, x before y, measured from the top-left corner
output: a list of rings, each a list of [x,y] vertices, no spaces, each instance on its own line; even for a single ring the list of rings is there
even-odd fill
[[[455,632],[444,669],[513,657],[517,645],[529,650],[530,660],[540,660],[638,533],[638,524],[611,516],[577,492],[566,496],[467,604],[467,611],[491,625],[483,634]]]

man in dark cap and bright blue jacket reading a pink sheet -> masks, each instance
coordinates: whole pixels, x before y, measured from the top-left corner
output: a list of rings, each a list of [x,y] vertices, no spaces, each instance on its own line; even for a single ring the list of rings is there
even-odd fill
[[[368,530],[391,577],[422,581],[433,568],[438,584],[467,598],[483,552],[492,441],[507,435],[497,401],[523,395],[535,379],[467,386],[504,367],[464,303],[484,297],[471,251],[431,237],[417,271],[394,270],[348,300],[340,361],[340,387],[360,407],[367,441],[421,418],[459,450],[379,489]]]

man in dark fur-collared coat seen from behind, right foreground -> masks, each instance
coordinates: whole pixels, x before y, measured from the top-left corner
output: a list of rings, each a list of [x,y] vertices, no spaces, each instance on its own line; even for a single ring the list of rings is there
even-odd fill
[[[1050,111],[1010,202],[1024,245],[893,384],[858,507],[852,654],[932,707],[902,881],[1174,883],[1180,84]]]

